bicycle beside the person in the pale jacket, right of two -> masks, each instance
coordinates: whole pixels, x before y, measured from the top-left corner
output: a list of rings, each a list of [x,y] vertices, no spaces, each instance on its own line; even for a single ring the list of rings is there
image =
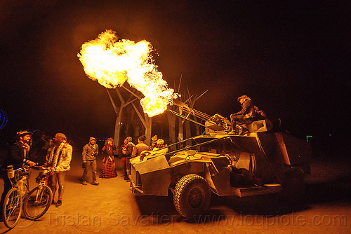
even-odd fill
[[[43,216],[51,205],[53,200],[53,191],[48,186],[48,177],[52,169],[43,166],[35,166],[40,169],[36,178],[38,186],[27,193],[23,202],[23,213],[25,219],[36,220]]]

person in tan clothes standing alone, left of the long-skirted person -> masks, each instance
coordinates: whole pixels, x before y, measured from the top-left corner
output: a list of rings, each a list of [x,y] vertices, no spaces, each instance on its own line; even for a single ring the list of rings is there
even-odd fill
[[[81,184],[86,185],[86,174],[88,174],[88,167],[91,167],[91,172],[93,175],[93,185],[98,185],[96,181],[96,156],[99,153],[99,146],[96,144],[96,139],[91,137],[89,143],[83,147],[81,153],[84,169],[83,176],[81,177]]]

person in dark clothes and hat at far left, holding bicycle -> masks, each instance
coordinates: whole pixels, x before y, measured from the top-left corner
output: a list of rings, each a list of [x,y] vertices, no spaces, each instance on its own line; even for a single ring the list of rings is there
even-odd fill
[[[20,131],[17,132],[16,139],[17,142],[13,143],[10,146],[8,151],[8,158],[6,158],[4,166],[7,167],[8,165],[13,166],[13,170],[16,170],[22,167],[23,164],[27,164],[29,166],[34,166],[35,163],[31,160],[27,159],[28,152],[29,152],[29,144],[32,138],[32,132],[28,131]],[[4,199],[8,191],[12,188],[11,181],[8,179],[7,175],[4,175],[4,192],[1,195],[0,207],[4,204]]]

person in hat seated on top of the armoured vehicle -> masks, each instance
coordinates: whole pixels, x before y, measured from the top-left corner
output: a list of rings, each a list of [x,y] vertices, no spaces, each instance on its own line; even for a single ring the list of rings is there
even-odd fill
[[[232,123],[232,131],[235,135],[245,135],[249,130],[244,128],[241,124],[252,123],[252,119],[256,117],[255,106],[250,97],[242,95],[237,99],[241,104],[241,111],[232,113],[230,115],[230,122]]]

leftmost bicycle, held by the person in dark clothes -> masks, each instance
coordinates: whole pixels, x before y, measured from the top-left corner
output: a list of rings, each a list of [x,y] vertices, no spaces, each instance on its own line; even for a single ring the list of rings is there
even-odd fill
[[[2,214],[5,226],[14,228],[22,214],[22,199],[29,191],[29,170],[27,165],[23,165],[17,170],[13,170],[12,166],[8,166],[8,179],[11,181],[12,188],[6,193]],[[15,173],[16,172],[16,173]]]

